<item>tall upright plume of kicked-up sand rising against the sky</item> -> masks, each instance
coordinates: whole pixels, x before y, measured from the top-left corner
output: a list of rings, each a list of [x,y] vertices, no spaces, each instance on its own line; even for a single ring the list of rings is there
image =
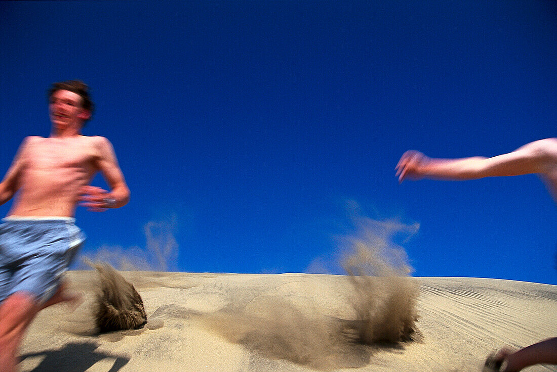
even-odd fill
[[[360,217],[356,237],[343,266],[353,286],[351,306],[356,314],[353,328],[364,344],[398,342],[416,338],[418,285],[409,274],[405,251],[395,244],[397,235],[406,239],[419,225]]]

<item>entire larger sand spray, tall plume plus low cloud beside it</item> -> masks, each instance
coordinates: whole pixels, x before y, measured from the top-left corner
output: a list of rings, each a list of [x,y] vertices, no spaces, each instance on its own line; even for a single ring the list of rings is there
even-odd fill
[[[345,307],[349,319],[326,316],[320,309],[287,298],[260,296],[245,306],[205,316],[205,323],[233,343],[272,359],[287,359],[331,370],[367,365],[385,341],[416,339],[418,286],[402,247],[418,225],[358,217],[355,235],[345,239],[348,277]]]

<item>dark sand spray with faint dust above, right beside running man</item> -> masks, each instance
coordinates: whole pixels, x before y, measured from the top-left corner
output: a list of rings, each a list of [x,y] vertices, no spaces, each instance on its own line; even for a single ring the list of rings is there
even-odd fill
[[[137,270],[169,271],[174,269],[178,256],[178,244],[174,237],[176,219],[151,221],[144,225],[146,245],[144,249],[120,246],[102,246],[93,254],[84,254],[79,269],[96,269],[95,296],[86,302],[79,321],[72,321],[63,330],[72,335],[97,335],[110,331],[120,331],[105,335],[117,340],[124,335],[140,334],[144,329],[156,329],[162,321],[146,319],[143,300],[134,285],[126,280],[119,270],[128,271],[126,277],[141,282]],[[145,283],[143,283],[145,284]]]

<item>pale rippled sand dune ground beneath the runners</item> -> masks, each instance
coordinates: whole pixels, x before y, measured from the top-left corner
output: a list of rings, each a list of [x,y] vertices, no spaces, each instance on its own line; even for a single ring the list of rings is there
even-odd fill
[[[37,316],[23,341],[21,371],[481,371],[500,346],[557,335],[557,286],[545,284],[416,278],[415,340],[363,346],[343,328],[355,319],[346,276],[124,276],[143,297],[145,328],[95,334],[96,272],[68,272],[85,301],[73,312],[55,305]]]

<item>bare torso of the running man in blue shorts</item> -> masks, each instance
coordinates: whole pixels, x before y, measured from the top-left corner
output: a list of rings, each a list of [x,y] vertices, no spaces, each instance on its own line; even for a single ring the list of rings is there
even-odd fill
[[[28,137],[21,149],[18,194],[8,215],[74,216],[79,188],[99,170],[102,137]]]

